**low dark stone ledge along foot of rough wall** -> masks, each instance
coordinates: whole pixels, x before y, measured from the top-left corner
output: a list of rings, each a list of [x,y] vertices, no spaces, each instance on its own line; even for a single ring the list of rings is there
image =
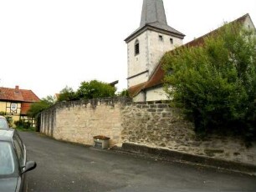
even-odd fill
[[[243,174],[256,175],[256,165],[243,164],[233,161],[226,161],[223,159],[213,159],[206,156],[195,154],[186,154],[170,149],[151,148],[141,144],[124,143],[121,148],[114,147],[114,150],[120,150],[132,154],[153,155],[159,159],[166,159],[178,162],[187,162],[216,169],[225,169],[233,172],[240,172]]]

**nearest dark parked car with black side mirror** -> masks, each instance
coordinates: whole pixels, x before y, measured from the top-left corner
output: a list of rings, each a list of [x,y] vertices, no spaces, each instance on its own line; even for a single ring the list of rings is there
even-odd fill
[[[26,173],[36,166],[34,161],[28,161],[17,130],[0,129],[0,191],[27,191]]]

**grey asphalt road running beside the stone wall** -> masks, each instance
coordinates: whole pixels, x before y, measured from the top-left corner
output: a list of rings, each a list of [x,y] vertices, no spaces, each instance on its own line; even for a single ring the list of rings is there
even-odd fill
[[[200,192],[256,191],[256,177],[189,164],[95,150],[20,133],[28,158],[28,191]]]

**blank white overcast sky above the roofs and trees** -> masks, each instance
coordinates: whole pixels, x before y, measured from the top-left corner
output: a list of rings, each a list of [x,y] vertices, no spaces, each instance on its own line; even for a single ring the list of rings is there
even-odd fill
[[[163,0],[167,23],[184,43],[249,13],[255,0]],[[139,28],[142,0],[0,0],[0,87],[39,98],[82,81],[126,88],[124,39]]]

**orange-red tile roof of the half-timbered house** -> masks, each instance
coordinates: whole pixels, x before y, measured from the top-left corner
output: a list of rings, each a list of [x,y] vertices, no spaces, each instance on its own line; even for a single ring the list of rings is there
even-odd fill
[[[31,90],[16,88],[0,88],[0,100],[19,102],[38,102],[40,99]]]

